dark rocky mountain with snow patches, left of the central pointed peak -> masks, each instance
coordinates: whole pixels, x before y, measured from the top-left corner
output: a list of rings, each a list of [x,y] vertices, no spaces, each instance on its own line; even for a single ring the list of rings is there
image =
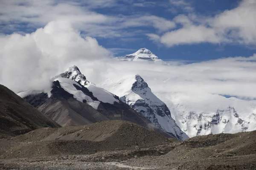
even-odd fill
[[[50,94],[33,91],[32,94],[22,92],[18,95],[62,126],[122,119],[171,137],[120,101],[118,96],[88,82],[76,66],[52,78],[52,81]]]

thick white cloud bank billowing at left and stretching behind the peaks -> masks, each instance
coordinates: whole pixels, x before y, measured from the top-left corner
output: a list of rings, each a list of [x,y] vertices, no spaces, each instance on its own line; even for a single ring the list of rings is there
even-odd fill
[[[96,39],[82,37],[65,21],[50,22],[31,34],[0,37],[0,83],[15,92],[50,88],[49,78],[72,65],[97,85],[140,74],[153,92],[256,97],[256,54],[191,64],[117,62]]]

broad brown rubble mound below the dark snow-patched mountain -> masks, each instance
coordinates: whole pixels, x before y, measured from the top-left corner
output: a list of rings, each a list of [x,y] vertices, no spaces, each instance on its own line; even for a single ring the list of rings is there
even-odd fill
[[[130,150],[169,143],[164,136],[125,121],[103,121],[85,126],[42,128],[3,139],[0,158],[38,157]],[[9,144],[7,144],[9,143]]]

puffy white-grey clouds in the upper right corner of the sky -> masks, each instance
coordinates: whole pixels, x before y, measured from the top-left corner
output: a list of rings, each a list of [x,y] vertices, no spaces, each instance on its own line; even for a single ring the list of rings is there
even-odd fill
[[[170,0],[176,6],[184,6],[183,0]],[[256,1],[242,0],[238,7],[226,10],[214,17],[195,14],[179,15],[174,22],[181,28],[162,35],[148,34],[151,40],[166,46],[196,43],[256,44]]]

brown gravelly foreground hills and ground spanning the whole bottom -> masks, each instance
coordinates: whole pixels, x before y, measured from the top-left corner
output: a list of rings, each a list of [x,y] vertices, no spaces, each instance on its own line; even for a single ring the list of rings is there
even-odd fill
[[[0,139],[0,169],[255,170],[256,131],[180,142],[131,122],[41,128]]]

